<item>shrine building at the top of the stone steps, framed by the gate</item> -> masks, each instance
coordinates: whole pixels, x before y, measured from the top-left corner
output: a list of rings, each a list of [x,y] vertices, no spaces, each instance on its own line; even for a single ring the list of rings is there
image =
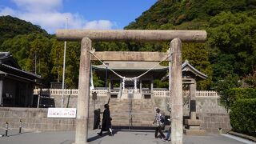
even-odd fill
[[[162,55],[164,56],[163,60],[167,60],[170,57],[168,53],[162,53]],[[92,59],[94,60],[95,58]],[[169,66],[161,66],[160,62],[102,62],[108,63],[108,67],[104,64],[92,65],[92,70],[100,79],[105,79],[105,82],[107,82],[105,89],[110,94],[110,98],[128,98],[128,90],[133,91],[134,98],[136,99],[153,98],[154,79],[165,77],[169,70]],[[112,70],[117,74],[112,72]],[[104,87],[98,87],[98,89],[102,90]]]

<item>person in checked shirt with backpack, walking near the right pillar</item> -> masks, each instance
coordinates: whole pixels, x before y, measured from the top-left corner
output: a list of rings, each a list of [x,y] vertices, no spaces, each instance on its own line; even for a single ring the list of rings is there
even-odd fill
[[[166,138],[165,134],[162,134],[162,126],[164,125],[163,122],[161,122],[162,115],[160,114],[160,109],[156,109],[156,114],[154,116],[154,122],[156,124],[156,128],[154,131],[154,138],[158,138],[158,132],[160,133],[160,138],[164,139]]]

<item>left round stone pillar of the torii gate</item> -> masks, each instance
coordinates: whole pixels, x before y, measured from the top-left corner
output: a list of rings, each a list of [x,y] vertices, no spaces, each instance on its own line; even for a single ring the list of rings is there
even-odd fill
[[[85,144],[88,138],[89,101],[90,101],[90,38],[82,38],[79,82],[78,113],[75,131],[75,144]]]

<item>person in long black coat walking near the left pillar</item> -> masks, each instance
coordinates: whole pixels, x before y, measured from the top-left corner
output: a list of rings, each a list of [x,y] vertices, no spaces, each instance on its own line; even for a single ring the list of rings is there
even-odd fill
[[[108,104],[104,105],[104,112],[103,112],[103,118],[102,118],[102,130],[97,133],[98,135],[102,135],[103,131],[109,131],[110,136],[113,136],[112,129],[111,129],[111,120],[110,117],[110,106]]]

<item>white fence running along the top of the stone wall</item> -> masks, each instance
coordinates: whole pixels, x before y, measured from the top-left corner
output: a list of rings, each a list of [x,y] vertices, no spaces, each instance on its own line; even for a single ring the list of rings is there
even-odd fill
[[[34,94],[39,94],[40,89],[34,89]],[[90,90],[90,94],[97,92],[98,96],[107,96],[107,90]],[[62,89],[42,89],[43,95],[62,95]],[[183,97],[190,95],[189,90],[183,90]],[[64,95],[78,95],[78,89],[64,89]],[[154,90],[154,97],[168,97],[169,90]],[[213,90],[197,90],[196,97],[218,97]]]

